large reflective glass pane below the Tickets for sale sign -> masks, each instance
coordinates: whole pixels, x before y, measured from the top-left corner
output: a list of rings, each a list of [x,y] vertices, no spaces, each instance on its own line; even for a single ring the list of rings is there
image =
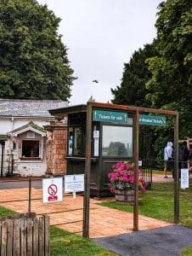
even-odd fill
[[[103,125],[102,155],[133,157],[133,127]]]

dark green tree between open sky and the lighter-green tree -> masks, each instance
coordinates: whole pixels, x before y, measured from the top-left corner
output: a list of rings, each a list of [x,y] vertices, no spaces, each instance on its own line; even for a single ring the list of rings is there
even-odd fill
[[[115,96],[113,103],[140,107],[150,106],[150,101],[145,99],[146,94],[149,93],[145,84],[151,78],[151,73],[145,61],[155,54],[155,42],[146,44],[144,49],[138,49],[133,53],[130,61],[124,64],[121,86],[117,86],[114,90],[111,89]]]

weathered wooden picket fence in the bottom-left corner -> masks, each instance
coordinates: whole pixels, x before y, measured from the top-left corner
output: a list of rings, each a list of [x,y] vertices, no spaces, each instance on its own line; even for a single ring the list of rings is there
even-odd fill
[[[17,214],[0,219],[1,256],[50,255],[49,217],[35,213]]]

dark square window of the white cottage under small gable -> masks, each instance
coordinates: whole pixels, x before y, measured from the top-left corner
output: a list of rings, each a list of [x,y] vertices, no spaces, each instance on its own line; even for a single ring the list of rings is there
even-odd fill
[[[40,157],[39,141],[38,140],[23,140],[22,141],[22,158],[24,157]]]

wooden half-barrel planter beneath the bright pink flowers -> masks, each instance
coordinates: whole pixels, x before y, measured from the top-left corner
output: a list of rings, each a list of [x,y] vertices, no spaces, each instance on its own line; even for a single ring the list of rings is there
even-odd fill
[[[131,205],[133,206],[134,201],[134,190],[122,190],[122,189],[115,189],[115,198],[116,201],[122,205]]]

